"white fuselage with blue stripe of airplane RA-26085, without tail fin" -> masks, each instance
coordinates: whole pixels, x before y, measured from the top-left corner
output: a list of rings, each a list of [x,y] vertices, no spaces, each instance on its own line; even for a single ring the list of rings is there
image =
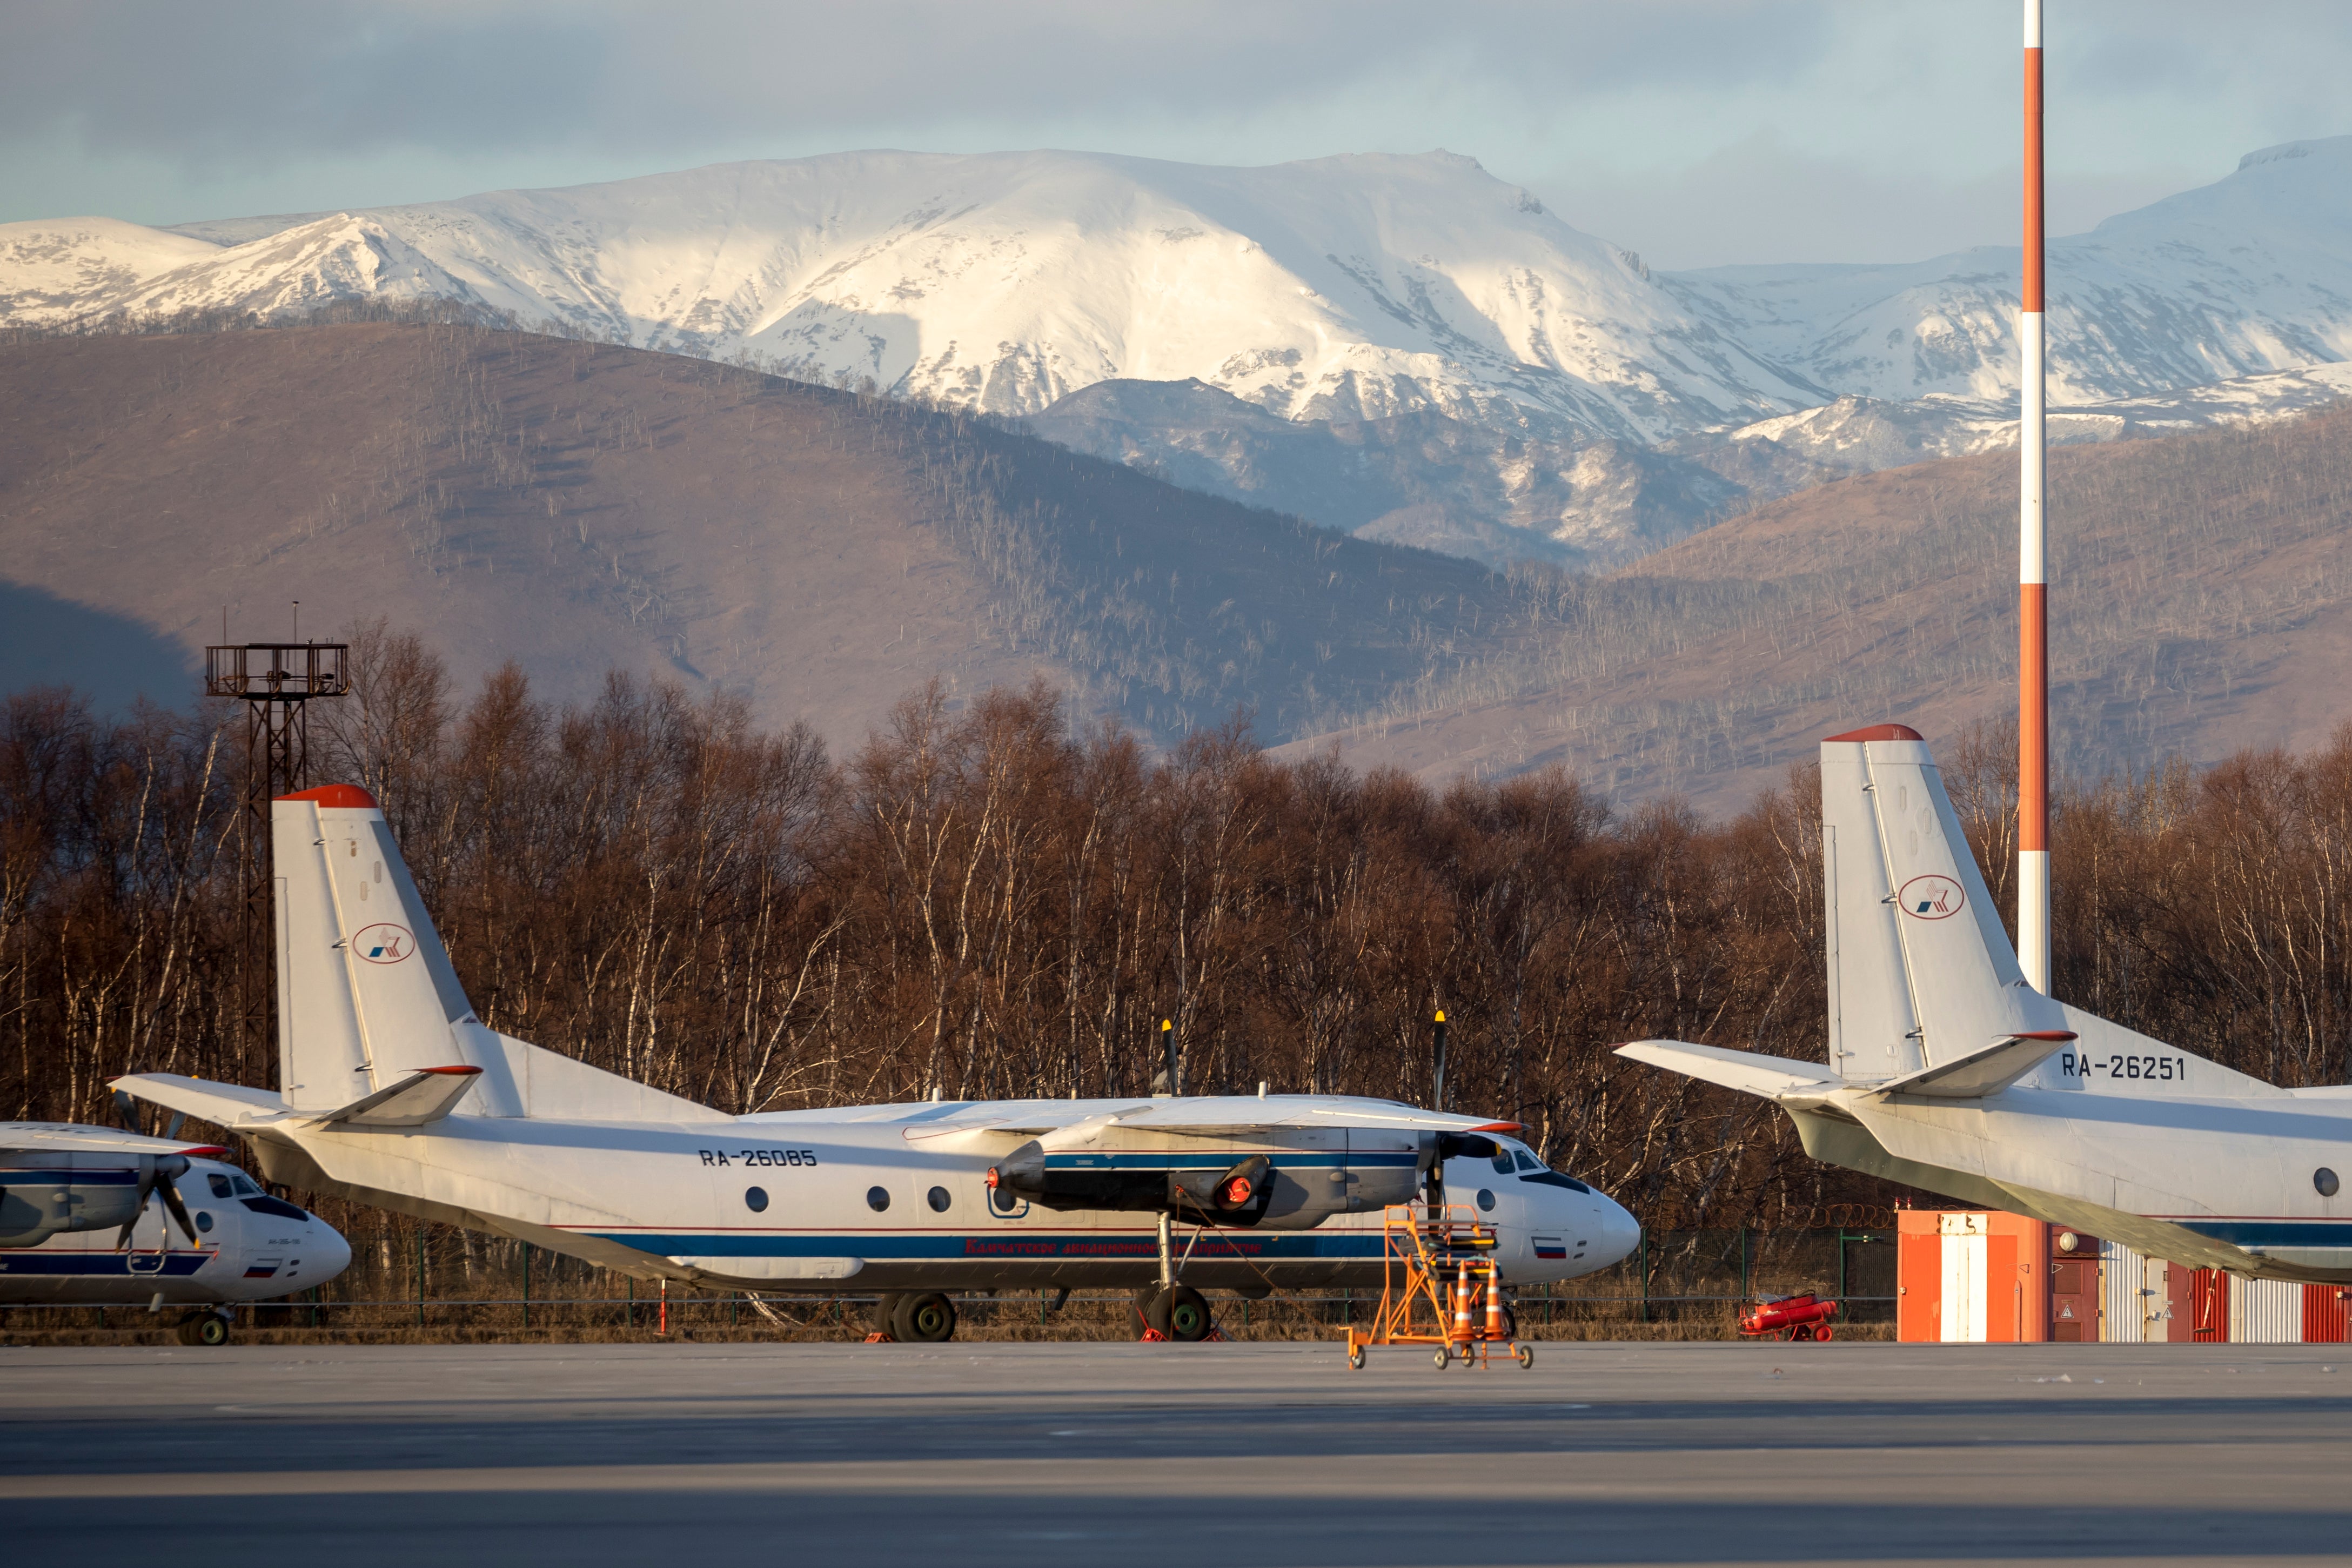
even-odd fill
[[[1058,1117],[1108,1117],[1138,1103],[1040,1105]],[[254,1147],[273,1180],[534,1239],[637,1274],[802,1293],[1155,1281],[1155,1213],[1049,1208],[990,1190],[990,1166],[1021,1135],[971,1124],[1021,1110],[917,1103],[706,1124],[452,1114],[416,1131],[278,1124]],[[1613,1201],[1543,1171],[1512,1140],[1496,1147],[1494,1157],[1446,1161],[1442,1180],[1449,1204],[1494,1227],[1510,1284],[1573,1279],[1632,1248],[1639,1232]],[[1411,1204],[1423,1182],[1425,1161],[1409,1133],[1112,1128],[1047,1159],[1058,1171],[1157,1178],[1221,1171],[1261,1152],[1272,1171],[1258,1213],[1178,1220],[1183,1281],[1232,1291],[1378,1284],[1383,1211]]]

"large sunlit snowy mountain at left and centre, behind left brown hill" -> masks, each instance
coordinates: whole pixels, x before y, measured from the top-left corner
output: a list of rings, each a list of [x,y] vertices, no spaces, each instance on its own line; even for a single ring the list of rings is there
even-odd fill
[[[38,289],[14,256],[42,259]],[[1451,153],[844,153],[169,235],[14,223],[0,268],[14,320],[459,299],[995,414],[1200,378],[1287,418],[1658,440],[1823,400]],[[92,287],[66,296],[52,280],[75,268]]]

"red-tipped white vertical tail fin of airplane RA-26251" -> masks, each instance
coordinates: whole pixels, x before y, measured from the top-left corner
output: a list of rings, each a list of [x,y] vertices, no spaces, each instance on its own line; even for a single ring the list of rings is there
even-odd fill
[[[1919,731],[1820,743],[1820,837],[1830,1065],[1844,1079],[1912,1079],[2067,1027],[2025,983]]]

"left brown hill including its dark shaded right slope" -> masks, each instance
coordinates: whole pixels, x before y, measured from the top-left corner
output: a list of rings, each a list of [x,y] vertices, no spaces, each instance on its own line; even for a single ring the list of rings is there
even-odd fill
[[[461,682],[727,684],[835,743],[934,675],[1289,738],[1451,672],[1503,597],[967,416],[445,322],[5,343],[0,536],[12,621],[54,628],[9,684],[101,632],[195,651],[223,607],[282,635],[301,599],[310,635],[390,616]]]

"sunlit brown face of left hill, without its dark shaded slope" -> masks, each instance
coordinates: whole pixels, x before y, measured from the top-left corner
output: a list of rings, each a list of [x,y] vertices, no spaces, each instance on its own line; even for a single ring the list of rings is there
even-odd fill
[[[748,686],[844,731],[934,670],[1037,668],[835,397],[449,327],[52,339],[0,360],[5,574],[200,649],[390,616],[520,658]]]

